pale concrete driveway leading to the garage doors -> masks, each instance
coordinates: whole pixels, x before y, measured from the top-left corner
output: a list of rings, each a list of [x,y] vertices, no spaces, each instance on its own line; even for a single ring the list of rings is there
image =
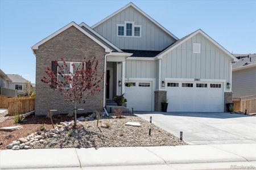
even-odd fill
[[[136,112],[191,145],[256,143],[256,117],[230,113]],[[156,133],[156,132],[155,132]],[[154,135],[154,130],[152,131]]]

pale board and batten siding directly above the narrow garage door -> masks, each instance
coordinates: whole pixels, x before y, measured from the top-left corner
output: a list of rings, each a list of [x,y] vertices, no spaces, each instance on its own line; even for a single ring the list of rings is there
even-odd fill
[[[156,78],[156,61],[127,59],[125,78]]]

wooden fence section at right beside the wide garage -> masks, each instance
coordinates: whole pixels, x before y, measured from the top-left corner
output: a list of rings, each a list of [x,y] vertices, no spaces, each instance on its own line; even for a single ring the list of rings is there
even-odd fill
[[[233,103],[235,112],[256,113],[256,95],[233,98]]]

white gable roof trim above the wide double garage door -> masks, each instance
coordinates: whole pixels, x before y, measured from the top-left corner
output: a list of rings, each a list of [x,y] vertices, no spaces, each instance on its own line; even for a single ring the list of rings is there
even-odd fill
[[[226,50],[223,46],[221,46],[220,44],[218,44],[218,42],[216,42],[215,40],[213,40],[210,36],[208,36],[204,31],[202,31],[201,29],[197,29],[197,31],[189,33],[189,35],[184,36],[183,38],[181,38],[180,40],[174,42],[174,44],[171,44],[170,46],[168,46],[166,49],[164,49],[160,54],[158,54],[158,58],[162,58],[164,56],[164,54],[167,54],[168,52],[170,52],[171,50],[175,49],[177,46],[179,46],[180,44],[182,44],[183,42],[187,41],[188,39],[191,39],[193,36],[197,35],[197,33],[201,33],[201,35],[203,35],[206,39],[208,39],[210,42],[212,42],[214,45],[216,45],[218,48],[220,48],[223,52],[225,52],[226,54],[228,54],[228,56],[230,58],[233,59],[234,62],[237,62],[238,59],[233,56],[233,54],[231,54],[228,50]]]

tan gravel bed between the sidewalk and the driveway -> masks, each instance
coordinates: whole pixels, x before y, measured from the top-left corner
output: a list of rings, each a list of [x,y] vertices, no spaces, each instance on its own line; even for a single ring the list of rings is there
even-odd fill
[[[126,122],[139,122],[140,127],[126,126]],[[55,137],[44,139],[32,148],[72,148],[72,147],[133,147],[133,146],[176,146],[187,145],[167,131],[134,115],[125,118],[102,119],[82,122],[78,129],[65,130]],[[109,125],[101,128],[100,125]],[[148,134],[151,127],[151,136]]]

